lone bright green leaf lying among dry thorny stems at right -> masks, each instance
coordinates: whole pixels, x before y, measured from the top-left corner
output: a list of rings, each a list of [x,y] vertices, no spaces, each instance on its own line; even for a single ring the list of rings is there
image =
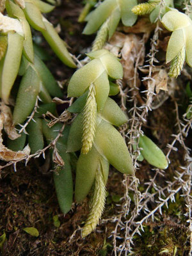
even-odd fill
[[[141,150],[141,154],[149,164],[160,169],[166,169],[168,167],[168,162],[163,151],[157,147],[150,138],[145,135],[140,136],[139,147],[143,148],[143,150]]]

